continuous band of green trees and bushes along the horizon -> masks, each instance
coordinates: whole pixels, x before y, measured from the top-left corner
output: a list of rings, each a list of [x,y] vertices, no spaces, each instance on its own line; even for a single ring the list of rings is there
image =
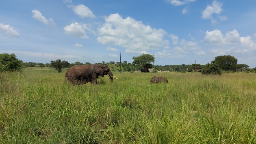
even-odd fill
[[[251,71],[256,72],[256,68],[249,69],[247,64],[237,64],[237,59],[234,56],[217,56],[215,60],[205,64],[181,64],[181,65],[154,65],[155,58],[154,55],[142,54],[140,56],[132,57],[134,60],[132,63],[127,62],[99,62],[97,64],[108,65],[111,71],[120,71],[119,67],[121,65],[121,71],[141,71],[141,72],[157,72],[157,71],[175,71],[175,72],[202,72],[202,74],[219,74],[223,72],[239,72],[239,71]],[[89,62],[81,63],[69,63],[65,60],[57,59],[52,60],[50,63],[46,62],[22,62],[18,60],[15,54],[0,54],[0,72],[4,71],[21,71],[23,67],[49,67],[56,69],[61,72],[62,69],[68,69],[74,65],[79,64],[91,64]]]

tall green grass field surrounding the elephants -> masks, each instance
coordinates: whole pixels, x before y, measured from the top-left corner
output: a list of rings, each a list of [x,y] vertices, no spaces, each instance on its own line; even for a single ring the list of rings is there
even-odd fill
[[[1,75],[1,144],[256,144],[256,73],[113,72],[73,86],[65,71]]]

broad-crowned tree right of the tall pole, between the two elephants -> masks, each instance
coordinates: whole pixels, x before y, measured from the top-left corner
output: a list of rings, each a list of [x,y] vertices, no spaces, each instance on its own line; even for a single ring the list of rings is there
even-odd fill
[[[151,54],[141,54],[140,56],[132,57],[132,59],[134,60],[134,64],[141,65],[141,72],[149,72],[148,69],[151,69],[153,67],[153,64],[151,64],[151,62],[155,62],[155,57]]]

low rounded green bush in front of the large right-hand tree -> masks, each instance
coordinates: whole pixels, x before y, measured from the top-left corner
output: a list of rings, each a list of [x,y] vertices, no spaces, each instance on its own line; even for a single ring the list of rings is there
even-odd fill
[[[207,63],[202,69],[202,74],[204,75],[221,75],[221,69],[216,63]]]

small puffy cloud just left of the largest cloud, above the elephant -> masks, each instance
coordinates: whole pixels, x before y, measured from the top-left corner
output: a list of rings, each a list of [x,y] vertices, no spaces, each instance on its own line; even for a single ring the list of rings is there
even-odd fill
[[[82,39],[88,39],[85,30],[92,32],[92,30],[88,28],[86,24],[77,22],[67,25],[63,29],[65,30],[66,34],[80,37]]]

